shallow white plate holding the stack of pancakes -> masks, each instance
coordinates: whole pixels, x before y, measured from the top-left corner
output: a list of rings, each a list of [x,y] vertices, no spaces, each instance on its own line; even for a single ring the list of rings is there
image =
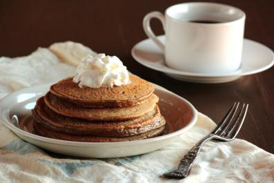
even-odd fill
[[[155,85],[166,132],[159,137],[129,142],[70,142],[41,137],[32,128],[31,109],[50,84],[18,90],[0,101],[0,120],[21,139],[55,153],[79,157],[124,157],[155,151],[173,142],[197,121],[197,110],[186,99]]]

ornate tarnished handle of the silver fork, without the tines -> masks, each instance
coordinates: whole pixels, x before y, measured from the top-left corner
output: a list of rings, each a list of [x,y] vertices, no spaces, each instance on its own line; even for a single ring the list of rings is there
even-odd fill
[[[176,171],[173,171],[173,173],[177,173],[178,177],[187,177],[191,166],[197,159],[197,155],[202,145],[208,140],[213,139],[214,137],[215,135],[209,134],[206,137],[199,140],[199,142],[197,142],[197,144],[195,144],[195,146],[193,146],[193,148],[191,148],[190,151],[188,151],[188,153],[184,155],[183,159],[179,162]]]

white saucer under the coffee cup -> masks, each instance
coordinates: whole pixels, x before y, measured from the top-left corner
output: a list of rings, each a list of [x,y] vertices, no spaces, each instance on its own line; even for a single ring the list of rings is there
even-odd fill
[[[161,35],[158,38],[164,43],[164,35]],[[131,54],[139,64],[148,68],[161,71],[175,79],[197,83],[223,83],[233,81],[243,75],[260,73],[271,68],[274,64],[273,51],[270,48],[249,39],[244,39],[241,68],[231,73],[189,73],[169,68],[164,64],[164,55],[162,51],[151,39],[140,41],[133,47]]]

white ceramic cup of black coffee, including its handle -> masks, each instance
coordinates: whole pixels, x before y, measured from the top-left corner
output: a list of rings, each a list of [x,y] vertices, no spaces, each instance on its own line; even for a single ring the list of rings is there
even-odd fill
[[[228,73],[241,64],[246,15],[239,8],[219,3],[180,3],[144,17],[146,35],[164,52],[166,65],[191,73]],[[159,19],[166,44],[150,28]],[[197,23],[191,21],[217,21]]]

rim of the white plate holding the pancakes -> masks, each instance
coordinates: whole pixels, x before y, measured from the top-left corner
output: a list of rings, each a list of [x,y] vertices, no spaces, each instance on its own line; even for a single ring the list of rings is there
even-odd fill
[[[166,88],[163,88],[162,86],[159,86],[157,84],[153,84],[155,86],[155,88],[157,88],[159,90],[164,90],[165,92],[170,93],[171,95],[175,95],[176,97],[179,97],[179,99],[182,99],[188,105],[188,107],[193,111],[193,117],[190,119],[190,122],[188,122],[188,124],[186,124],[186,126],[184,126],[184,128],[179,129],[179,131],[175,131],[173,133],[169,133],[167,135],[161,135],[158,137],[152,137],[152,138],[148,138],[148,139],[139,139],[139,140],[134,140],[134,141],[126,141],[126,142],[75,142],[75,141],[67,141],[67,140],[62,140],[62,139],[52,139],[52,138],[43,137],[40,135],[35,135],[32,133],[23,131],[20,128],[18,128],[17,126],[14,126],[12,124],[12,122],[10,122],[10,119],[8,119],[9,117],[7,118],[5,115],[3,115],[3,109],[6,109],[6,108],[3,108],[1,106],[1,104],[3,102],[5,102],[6,100],[8,100],[10,97],[17,96],[23,92],[26,92],[26,90],[30,90],[30,89],[35,90],[35,88],[49,88],[50,85],[52,85],[52,83],[40,84],[37,86],[30,86],[27,88],[22,88],[22,89],[17,90],[13,93],[10,93],[9,95],[6,95],[6,97],[3,97],[3,99],[0,100],[0,119],[1,119],[2,123],[6,127],[8,127],[10,129],[10,131],[12,131],[12,133],[15,133],[16,135],[17,135],[17,133],[19,133],[19,135],[29,137],[30,139],[34,139],[34,140],[38,140],[38,141],[42,141],[42,142],[46,142],[46,143],[50,143],[50,144],[58,144],[58,145],[62,145],[62,146],[108,146],[108,147],[110,147],[110,146],[133,146],[133,145],[137,145],[137,144],[149,144],[151,142],[161,141],[161,139],[176,137],[176,136],[179,136],[182,133],[184,133],[184,131],[187,131],[188,129],[192,128],[197,122],[198,113],[197,113],[197,110],[195,109],[195,107],[193,106],[193,104],[188,102],[188,100],[184,99],[183,97],[171,92],[170,90],[166,90]],[[12,108],[12,106],[13,105],[10,105],[8,108]]]

